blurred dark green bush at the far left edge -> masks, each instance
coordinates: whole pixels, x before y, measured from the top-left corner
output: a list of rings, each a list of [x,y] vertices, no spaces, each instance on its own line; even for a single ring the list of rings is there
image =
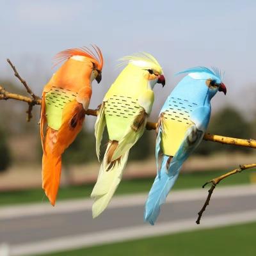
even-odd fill
[[[5,171],[11,163],[10,148],[6,141],[6,134],[0,129],[0,172]]]

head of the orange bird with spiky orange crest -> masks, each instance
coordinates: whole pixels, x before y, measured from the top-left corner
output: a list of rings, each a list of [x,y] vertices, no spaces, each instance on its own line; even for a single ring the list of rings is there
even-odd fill
[[[61,61],[68,60],[69,58],[88,63],[88,69],[92,70],[92,72],[90,72],[90,81],[92,82],[95,79],[98,84],[100,83],[102,79],[101,72],[104,60],[97,45],[92,45],[92,49],[84,46],[59,52],[55,56],[55,60],[57,61],[56,65]]]

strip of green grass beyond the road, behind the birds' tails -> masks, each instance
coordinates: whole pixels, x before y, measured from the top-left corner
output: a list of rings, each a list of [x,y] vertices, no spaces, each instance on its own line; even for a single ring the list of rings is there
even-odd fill
[[[196,172],[196,173],[181,173],[173,189],[189,189],[201,188],[207,180],[210,180],[223,172]],[[223,185],[231,184],[246,184],[250,182],[251,172],[238,173],[224,180]],[[122,180],[120,186],[116,191],[116,195],[129,193],[147,193],[152,186],[154,179],[137,179],[137,180]],[[86,184],[83,186],[70,186],[60,188],[58,200],[71,198],[85,198],[90,196],[93,184]],[[206,193],[206,192],[205,192]],[[22,191],[4,191],[1,192],[0,205],[8,204],[23,204],[29,202],[47,202],[42,189],[29,189]],[[58,204],[58,202],[57,202]]]

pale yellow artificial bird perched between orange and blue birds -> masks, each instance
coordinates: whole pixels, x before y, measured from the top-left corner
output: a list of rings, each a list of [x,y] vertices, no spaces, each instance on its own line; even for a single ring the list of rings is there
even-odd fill
[[[154,85],[164,84],[162,69],[150,54],[129,56],[123,60],[128,65],[106,93],[95,124],[98,157],[105,125],[109,143],[91,195],[95,199],[93,218],[108,206],[122,179],[129,150],[145,131],[154,102]]]

